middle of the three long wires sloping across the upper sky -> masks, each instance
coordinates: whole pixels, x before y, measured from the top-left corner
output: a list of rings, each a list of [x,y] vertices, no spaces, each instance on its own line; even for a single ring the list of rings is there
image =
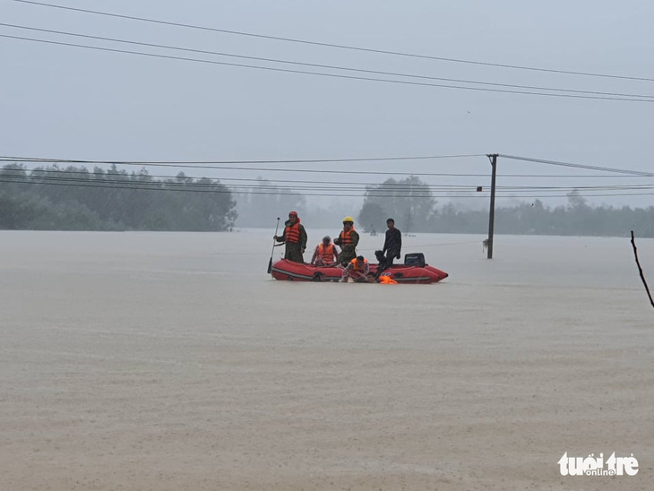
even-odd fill
[[[210,50],[205,50],[205,49],[194,49],[194,48],[189,48],[189,47],[175,47],[175,46],[169,46],[169,45],[144,43],[144,42],[133,41],[133,40],[128,40],[128,39],[116,39],[116,38],[106,38],[106,37],[102,37],[102,36],[91,36],[91,35],[88,35],[88,34],[79,34],[79,33],[75,33],[75,32],[66,32],[66,31],[63,31],[63,30],[39,29],[39,28],[29,27],[29,26],[22,26],[22,25],[16,25],[16,24],[7,24],[7,23],[4,23],[4,22],[0,22],[0,26],[10,27],[10,28],[13,28],[13,29],[22,29],[22,30],[36,30],[36,31],[39,31],[39,32],[47,32],[49,34],[60,34],[60,35],[64,35],[64,36],[74,36],[74,37],[77,37],[77,38],[84,38],[84,39],[97,39],[97,40],[102,40],[102,41],[124,43],[124,44],[143,46],[143,47],[157,47],[157,48],[163,48],[163,49],[174,49],[174,50],[177,50],[177,51],[185,51],[185,52],[190,52],[190,53],[199,53],[199,54],[202,54],[202,55],[229,56],[229,57],[241,58],[241,59],[247,59],[247,60],[254,60],[254,61],[280,63],[280,64],[287,64],[287,65],[311,66],[311,67],[314,67],[314,68],[326,68],[326,69],[330,69],[330,70],[342,70],[342,71],[357,72],[357,73],[372,73],[372,74],[376,74],[376,75],[390,75],[390,76],[397,76],[397,77],[416,78],[416,79],[422,79],[422,80],[437,80],[437,81],[442,81],[442,82],[473,83],[473,84],[478,84],[478,85],[488,85],[488,86],[494,86],[494,87],[508,87],[508,88],[513,88],[513,89],[552,90],[552,91],[568,92],[568,93],[576,93],[576,94],[593,94],[593,95],[604,95],[604,96],[626,97],[626,98],[654,98],[654,95],[648,95],[648,94],[625,94],[625,93],[620,93],[620,92],[601,92],[601,91],[597,91],[597,90],[559,89],[559,88],[552,88],[552,87],[539,87],[539,86],[534,86],[534,85],[518,85],[518,84],[512,84],[512,83],[479,82],[479,81],[474,81],[474,80],[451,79],[451,78],[434,77],[434,76],[428,76],[428,75],[418,75],[418,74],[415,74],[415,73],[384,72],[384,71],[379,71],[379,70],[366,70],[366,69],[361,69],[361,68],[351,68],[351,67],[338,66],[338,65],[321,65],[321,64],[314,64],[314,63],[303,63],[303,62],[282,60],[282,59],[276,59],[276,58],[265,58],[265,57],[261,57],[261,56],[235,55],[233,53],[225,53],[225,52],[220,52],[220,51],[210,51]]]

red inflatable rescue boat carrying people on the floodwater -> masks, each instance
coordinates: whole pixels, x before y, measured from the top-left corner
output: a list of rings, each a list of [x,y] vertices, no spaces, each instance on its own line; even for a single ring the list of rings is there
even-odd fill
[[[379,264],[369,264],[370,274],[377,272]],[[271,275],[275,280],[288,281],[339,281],[343,268],[340,266],[313,266],[281,259],[272,264]],[[448,277],[445,271],[425,263],[423,254],[407,254],[404,264],[393,264],[383,271],[384,276],[398,283],[436,283]]]

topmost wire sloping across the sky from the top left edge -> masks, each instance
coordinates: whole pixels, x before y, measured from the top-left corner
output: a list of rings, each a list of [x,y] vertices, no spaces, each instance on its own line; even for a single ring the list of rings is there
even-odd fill
[[[334,47],[334,48],[338,48],[338,49],[347,49],[347,50],[352,50],[352,51],[362,51],[362,52],[366,52],[366,53],[376,53],[376,54],[381,54],[381,55],[406,56],[406,57],[411,57],[411,58],[419,58],[419,59],[427,59],[427,60],[435,60],[435,61],[444,61],[444,62],[467,64],[467,65],[481,65],[481,66],[493,66],[495,68],[509,68],[509,69],[515,69],[515,70],[527,70],[527,71],[531,71],[531,72],[560,73],[560,74],[567,74],[567,75],[581,75],[581,76],[587,76],[587,77],[601,77],[601,78],[610,78],[610,79],[654,82],[654,78],[648,78],[648,77],[616,75],[616,74],[612,74],[612,73],[575,72],[575,71],[571,71],[571,70],[557,70],[557,69],[551,69],[551,68],[541,68],[541,67],[536,67],[536,66],[509,65],[509,64],[500,64],[500,63],[481,62],[481,61],[477,61],[477,60],[466,60],[466,59],[461,59],[461,58],[451,58],[451,57],[444,57],[444,56],[419,55],[419,54],[416,54],[416,53],[407,53],[407,52],[401,52],[401,51],[391,51],[391,50],[385,50],[385,49],[374,49],[374,48],[369,48],[369,47],[356,47],[356,46],[349,46],[349,45],[340,45],[340,44],[335,44],[335,43],[323,43],[323,42],[318,42],[318,41],[310,41],[310,40],[307,40],[307,39],[284,38],[284,37],[280,37],[280,36],[270,36],[270,35],[264,35],[264,34],[256,34],[256,33],[253,33],[253,32],[218,29],[218,28],[211,28],[211,27],[194,25],[194,24],[185,24],[185,23],[182,23],[182,22],[159,21],[159,20],[156,20],[156,19],[147,19],[147,18],[144,18],[144,17],[136,17],[136,16],[132,16],[132,15],[123,15],[123,14],[118,14],[118,13],[100,12],[100,11],[94,11],[94,10],[88,10],[88,9],[68,7],[68,6],[64,6],[64,5],[46,4],[46,3],[43,3],[43,2],[34,2],[34,1],[31,1],[31,0],[13,0],[13,2],[18,2],[18,3],[21,3],[21,4],[33,4],[33,5],[39,5],[39,6],[44,6],[44,7],[58,8],[58,9],[63,9],[63,10],[68,10],[68,11],[75,11],[75,12],[80,12],[80,13],[91,13],[91,14],[94,14],[94,15],[103,15],[103,16],[115,17],[115,18],[119,18],[119,19],[126,19],[126,20],[130,20],[130,21],[151,22],[151,23],[156,23],[156,24],[163,24],[163,25],[168,25],[168,26],[181,27],[181,28],[185,28],[185,29],[207,30],[207,31],[212,31],[212,32],[221,32],[223,34],[246,36],[246,37],[250,37],[250,38],[272,39],[272,40],[277,40],[277,41],[285,41],[285,42],[299,43],[299,44],[312,45],[312,46],[321,46],[321,47]]]

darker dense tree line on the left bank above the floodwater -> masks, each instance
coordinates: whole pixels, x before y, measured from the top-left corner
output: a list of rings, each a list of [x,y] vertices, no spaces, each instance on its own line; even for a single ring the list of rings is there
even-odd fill
[[[236,202],[218,180],[155,179],[127,173],[49,166],[0,170],[0,228],[35,230],[227,230]]]

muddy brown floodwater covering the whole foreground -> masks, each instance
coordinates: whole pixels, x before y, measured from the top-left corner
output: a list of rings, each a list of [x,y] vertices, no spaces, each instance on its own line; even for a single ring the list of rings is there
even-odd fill
[[[0,232],[0,489],[652,489],[628,238],[417,234],[450,278],[362,285],[271,280],[272,235]]]

